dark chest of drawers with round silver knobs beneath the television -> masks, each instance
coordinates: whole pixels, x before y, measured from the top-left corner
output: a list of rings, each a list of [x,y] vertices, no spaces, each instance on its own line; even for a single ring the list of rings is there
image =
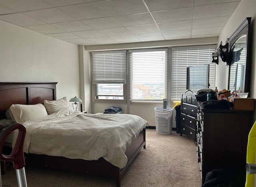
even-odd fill
[[[195,93],[181,94],[180,136],[186,134],[196,141],[197,101]]]

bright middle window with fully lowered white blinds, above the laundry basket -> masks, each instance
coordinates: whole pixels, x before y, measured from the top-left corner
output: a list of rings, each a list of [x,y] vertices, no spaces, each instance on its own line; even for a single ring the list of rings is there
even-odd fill
[[[167,49],[129,51],[130,100],[167,98]]]

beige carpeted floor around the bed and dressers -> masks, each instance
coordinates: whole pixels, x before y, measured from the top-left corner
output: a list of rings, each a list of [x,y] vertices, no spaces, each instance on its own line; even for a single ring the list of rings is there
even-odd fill
[[[65,164],[65,163],[63,163]],[[28,187],[114,187],[114,178],[52,169],[25,167]],[[7,168],[2,186],[18,186],[15,170]],[[173,131],[170,135],[146,129],[142,149],[121,179],[122,187],[200,187],[201,176],[194,140]]]

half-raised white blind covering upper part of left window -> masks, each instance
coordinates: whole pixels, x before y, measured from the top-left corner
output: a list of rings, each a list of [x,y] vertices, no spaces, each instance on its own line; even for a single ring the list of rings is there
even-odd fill
[[[126,84],[126,51],[92,52],[94,84]]]

